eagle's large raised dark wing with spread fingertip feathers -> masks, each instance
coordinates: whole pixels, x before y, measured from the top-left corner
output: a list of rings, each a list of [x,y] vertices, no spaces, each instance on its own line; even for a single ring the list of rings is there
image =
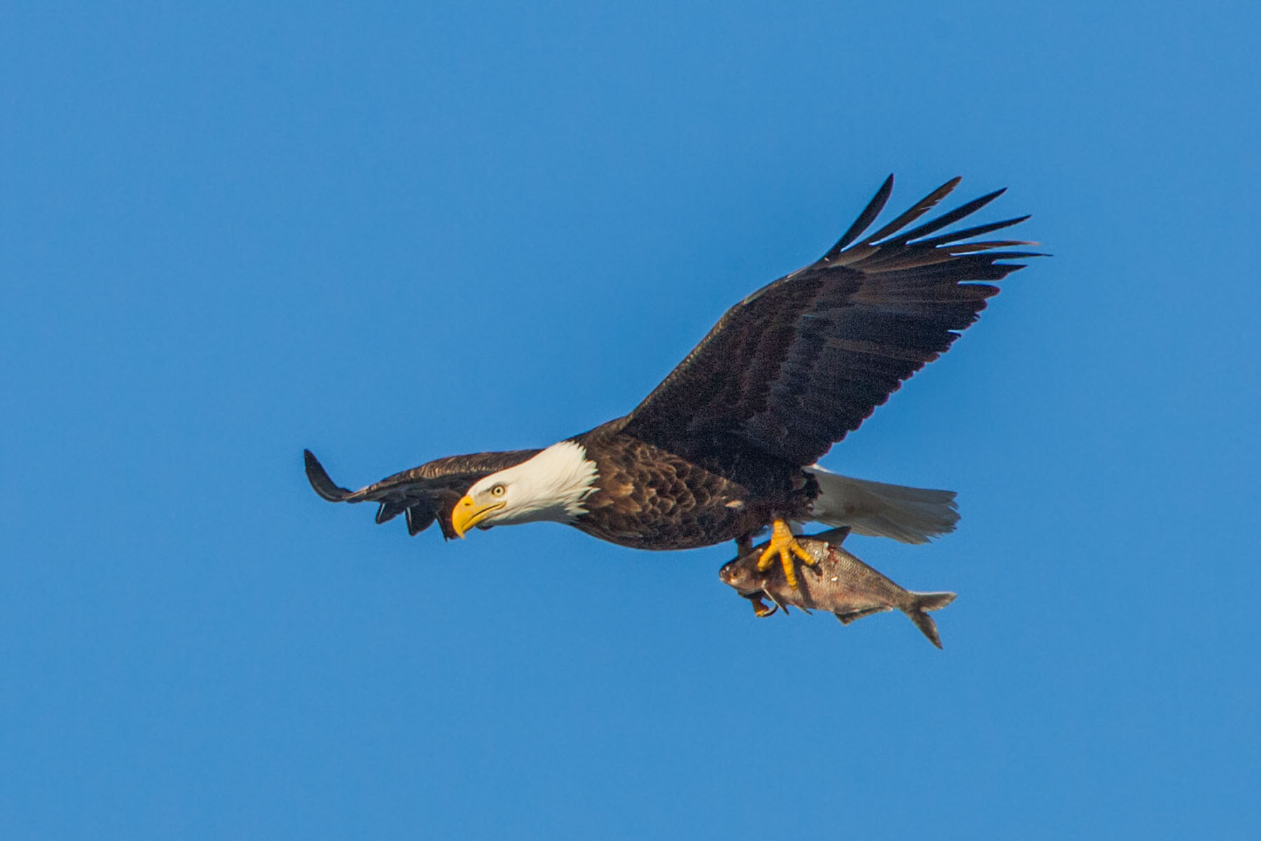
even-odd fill
[[[680,455],[743,440],[813,464],[976,320],[1000,280],[1040,256],[1016,240],[960,242],[1029,217],[931,236],[1002,190],[903,231],[955,178],[871,236],[893,177],[817,262],[733,306],[627,419],[624,431]]]

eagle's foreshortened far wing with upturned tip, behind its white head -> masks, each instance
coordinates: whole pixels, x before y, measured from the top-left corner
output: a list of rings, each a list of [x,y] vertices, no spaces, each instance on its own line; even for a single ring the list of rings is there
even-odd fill
[[[401,513],[407,514],[407,532],[417,535],[438,519],[443,537],[456,537],[451,528],[451,509],[474,482],[484,475],[521,464],[538,450],[509,450],[507,453],[473,453],[434,459],[419,468],[396,473],[376,484],[351,490],[335,484],[324,465],[310,450],[303,450],[306,459],[306,479],[315,493],[329,502],[378,502],[377,522],[383,523]]]

